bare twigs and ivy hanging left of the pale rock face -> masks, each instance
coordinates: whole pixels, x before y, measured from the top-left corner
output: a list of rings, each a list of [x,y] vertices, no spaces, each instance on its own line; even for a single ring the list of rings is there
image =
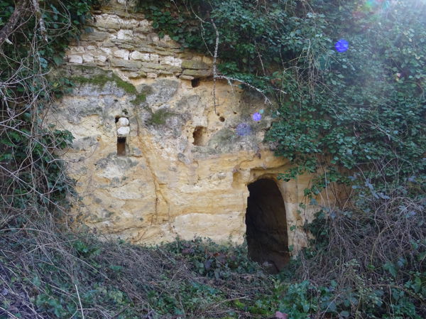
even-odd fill
[[[43,124],[70,81],[48,75],[96,2],[0,1],[0,227],[60,212],[72,191],[55,155],[72,135]]]

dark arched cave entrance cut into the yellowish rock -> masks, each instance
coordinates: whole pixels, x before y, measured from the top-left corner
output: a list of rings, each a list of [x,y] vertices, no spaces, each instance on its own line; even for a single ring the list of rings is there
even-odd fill
[[[276,273],[290,260],[283,196],[275,181],[261,178],[249,185],[246,239],[249,257]]]

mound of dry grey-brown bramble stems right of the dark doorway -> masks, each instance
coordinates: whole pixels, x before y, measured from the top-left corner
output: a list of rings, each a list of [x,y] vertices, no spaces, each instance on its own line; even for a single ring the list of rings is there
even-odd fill
[[[386,195],[361,192],[350,210],[332,210],[329,218],[310,225],[317,239],[312,254],[301,256],[300,278],[317,287],[334,281],[336,298],[357,291],[353,313],[368,299],[363,301],[363,294],[382,291],[391,304],[394,289],[403,291],[426,318],[425,296],[410,286],[415,276],[426,274],[426,200],[420,189],[411,192],[413,187]]]

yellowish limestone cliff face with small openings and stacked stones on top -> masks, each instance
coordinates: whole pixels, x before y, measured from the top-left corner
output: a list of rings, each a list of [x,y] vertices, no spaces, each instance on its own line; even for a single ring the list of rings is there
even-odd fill
[[[119,2],[97,12],[89,31],[62,70],[76,86],[49,114],[75,136],[63,156],[80,220],[143,244],[195,235],[243,242],[248,185],[269,178],[283,196],[288,245],[305,245],[292,226],[310,218],[299,211],[309,177],[277,180],[290,164],[262,143],[271,110],[260,97],[227,82],[214,88],[210,58],[158,38]]]

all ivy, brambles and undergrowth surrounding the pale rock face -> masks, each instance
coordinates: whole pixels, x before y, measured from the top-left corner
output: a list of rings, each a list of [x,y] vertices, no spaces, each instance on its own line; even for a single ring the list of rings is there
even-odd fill
[[[43,120],[72,81],[47,75],[98,1],[0,0],[0,318],[425,318],[426,4],[139,2],[160,36],[217,57],[215,77],[268,97],[283,179],[315,172],[312,204],[332,183],[349,199],[277,276],[245,247],[58,232],[72,136]]]

